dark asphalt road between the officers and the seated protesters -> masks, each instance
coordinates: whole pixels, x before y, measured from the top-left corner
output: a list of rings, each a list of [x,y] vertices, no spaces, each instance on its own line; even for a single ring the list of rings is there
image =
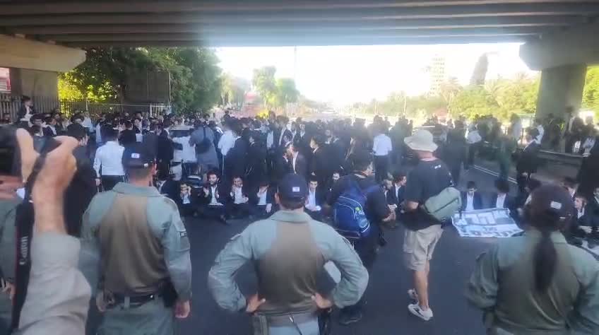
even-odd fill
[[[470,170],[463,172],[461,187],[475,180],[481,192],[493,191],[494,177]],[[515,189],[515,185],[514,186]],[[251,334],[247,315],[220,310],[208,293],[208,270],[216,254],[227,240],[242,231],[249,222],[232,221],[224,226],[213,221],[186,221],[191,240],[194,298],[189,319],[181,322],[181,334],[248,335]],[[403,228],[387,231],[389,244],[381,249],[365,293],[367,305],[361,322],[350,327],[335,324],[338,335],[480,335],[484,334],[481,313],[468,305],[463,297],[465,281],[473,269],[475,258],[494,240],[462,238],[448,228],[431,264],[429,295],[434,318],[423,322],[408,312],[406,291],[411,288],[408,271],[403,267]],[[245,294],[256,292],[256,279],[250,264],[242,268],[237,282]]]

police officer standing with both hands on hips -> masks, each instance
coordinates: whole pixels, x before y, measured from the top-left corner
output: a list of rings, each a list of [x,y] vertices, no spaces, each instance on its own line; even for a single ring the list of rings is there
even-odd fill
[[[319,310],[355,304],[368,284],[368,272],[348,240],[304,213],[307,194],[304,177],[285,175],[275,194],[280,211],[233,237],[208,274],[220,307],[254,314],[254,334],[318,335]],[[249,261],[260,280],[258,293],[245,297],[234,276]],[[328,261],[343,274],[330,294],[317,287]]]

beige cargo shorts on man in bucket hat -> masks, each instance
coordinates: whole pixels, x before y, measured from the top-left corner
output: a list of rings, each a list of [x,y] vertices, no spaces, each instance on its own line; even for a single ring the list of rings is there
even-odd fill
[[[414,271],[424,271],[427,261],[441,239],[441,225],[431,225],[421,230],[405,230],[403,237],[403,259],[405,266]]]

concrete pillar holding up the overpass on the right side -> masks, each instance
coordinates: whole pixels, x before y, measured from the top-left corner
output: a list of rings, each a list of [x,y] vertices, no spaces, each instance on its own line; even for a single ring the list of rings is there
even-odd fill
[[[552,113],[564,117],[566,107],[579,109],[586,79],[586,64],[574,64],[544,69],[537,101],[537,117]],[[564,117],[565,119],[565,117]]]

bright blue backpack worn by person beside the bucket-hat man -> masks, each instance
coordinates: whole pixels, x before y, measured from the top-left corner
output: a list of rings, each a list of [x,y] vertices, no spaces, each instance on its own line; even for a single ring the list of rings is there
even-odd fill
[[[370,235],[370,223],[364,213],[367,195],[378,189],[372,185],[362,192],[355,180],[350,180],[350,187],[339,196],[333,205],[333,228],[348,240],[360,240]]]

